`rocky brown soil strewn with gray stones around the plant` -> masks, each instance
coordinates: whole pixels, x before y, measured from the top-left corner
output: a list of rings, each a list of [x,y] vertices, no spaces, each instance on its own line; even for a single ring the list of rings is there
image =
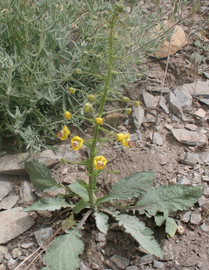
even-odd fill
[[[185,21],[184,30],[188,29]],[[90,217],[82,232],[85,250],[80,256],[80,270],[208,270],[209,217],[204,220],[202,218],[208,211],[209,201],[209,74],[206,62],[201,64],[203,71],[199,73],[197,83],[187,77],[191,53],[191,45],[187,45],[169,60],[154,140],[152,133],[166,59],[148,58],[145,62],[150,71],[147,79],[133,85],[131,89],[124,89],[130,99],[140,100],[141,106],[133,108],[133,113],[128,118],[117,113],[108,116],[104,122],[113,126],[117,123],[120,132],[129,132],[134,139],[134,147],[127,149],[119,142],[103,145],[100,153],[107,158],[107,169],[120,170],[120,174],[103,172],[98,177],[100,191],[97,197],[107,194],[121,177],[143,170],[155,173],[155,186],[204,185],[203,196],[190,210],[173,213],[173,218],[183,227],[183,231],[182,234],[176,233],[172,239],[167,238],[164,226],[156,227],[154,220],[141,216],[161,244],[162,259],[151,256],[138,247],[133,238],[125,234],[111,219],[108,234],[98,232]],[[107,104],[106,110],[122,106],[123,104],[119,103]],[[83,129],[85,136],[82,137],[87,140],[92,136],[92,127],[86,125]],[[77,134],[77,131],[72,129],[71,133]],[[102,135],[101,133],[100,136]],[[67,150],[70,149],[70,140],[66,140],[66,143],[62,145],[66,149],[44,150],[35,153],[33,158],[46,163],[52,175],[62,184],[70,184],[76,181],[76,178],[87,182],[85,166],[58,161],[62,157],[71,161],[81,160],[79,155],[86,157],[89,150],[84,147],[79,153],[73,153],[72,150]],[[20,263],[49,239],[66,217],[62,215],[53,223],[46,224],[53,220],[58,211],[29,214],[21,212],[23,207],[31,205],[40,197],[54,197],[61,191],[43,193],[34,188],[24,165],[17,165],[20,160],[19,154],[0,158],[0,270],[40,270],[43,266],[43,254],[28,268],[27,265],[37,253],[24,264]],[[195,225],[198,227],[194,228]]]

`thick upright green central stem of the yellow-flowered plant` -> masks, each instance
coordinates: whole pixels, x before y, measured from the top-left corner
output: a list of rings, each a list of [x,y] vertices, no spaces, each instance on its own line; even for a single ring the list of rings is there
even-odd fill
[[[103,113],[103,109],[104,109],[104,105],[105,105],[105,101],[106,101],[107,90],[108,90],[110,78],[111,78],[111,70],[112,70],[112,66],[113,66],[114,19],[115,19],[115,14],[113,13],[112,20],[110,23],[110,36],[109,36],[109,46],[110,46],[109,66],[108,66],[108,70],[107,70],[107,76],[105,78],[105,86],[104,86],[103,95],[102,95],[102,99],[101,99],[100,106],[99,106],[98,117],[102,117],[102,113]],[[96,150],[98,133],[99,133],[99,124],[95,124],[93,141],[92,141],[92,146],[91,146],[91,153],[90,153],[90,158],[89,158],[89,191],[88,191],[89,202],[93,208],[95,208],[95,200],[94,200],[94,192],[93,192],[93,188],[94,188],[93,170],[94,170],[94,157],[95,157],[95,150]]]

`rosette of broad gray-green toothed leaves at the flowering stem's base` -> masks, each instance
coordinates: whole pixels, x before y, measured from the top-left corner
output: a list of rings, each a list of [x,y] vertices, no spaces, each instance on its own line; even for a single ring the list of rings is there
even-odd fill
[[[25,162],[25,167],[30,174],[32,183],[35,186],[39,186],[40,190],[45,190],[49,185],[51,188],[61,186],[59,183],[54,183],[55,180],[53,182],[51,181],[49,170],[37,160]],[[42,174],[40,174],[40,171],[42,171]],[[173,218],[169,217],[169,213],[177,210],[186,210],[193,206],[198,198],[202,196],[203,187],[200,185],[196,187],[161,185],[157,188],[151,188],[153,179],[154,174],[145,171],[134,173],[127,178],[121,178],[114,185],[109,195],[97,199],[96,208],[91,207],[88,201],[88,185],[83,184],[81,180],[79,180],[79,183],[72,183],[67,187],[62,186],[68,192],[68,197],[71,194],[71,196],[76,195],[78,198],[81,198],[77,204],[68,204],[63,198],[46,198],[25,208],[23,211],[26,212],[56,210],[61,207],[66,209],[68,206],[69,211],[72,210],[69,221],[63,222],[62,225],[67,235],[57,237],[46,252],[46,255],[44,255],[44,262],[47,265],[46,269],[74,270],[78,267],[78,255],[83,251],[83,244],[78,233],[91,213],[95,217],[96,226],[99,231],[107,234],[109,227],[108,218],[112,216],[118,222],[119,226],[122,226],[128,234],[131,234],[149,253],[162,257],[161,248],[152,236],[152,230],[146,227],[142,220],[135,217],[132,211],[129,214],[120,214],[119,211],[114,211],[111,205],[119,210],[135,210],[138,211],[139,214],[146,214],[148,217],[154,216],[156,225],[161,226],[165,223],[165,231],[168,237],[173,237],[177,229],[177,224]],[[135,205],[128,205],[126,201],[134,197],[138,197]],[[117,202],[118,198],[120,201],[122,200],[123,203]],[[107,203],[109,203],[109,206]],[[84,211],[84,208],[88,208],[89,210],[84,214],[80,224],[76,228],[66,230],[66,226],[72,227],[74,224],[73,215],[78,214],[82,210]],[[65,223],[67,223],[67,225]],[[75,249],[73,247],[75,247]],[[58,256],[57,254],[60,255]],[[55,257],[59,259],[55,260]]]

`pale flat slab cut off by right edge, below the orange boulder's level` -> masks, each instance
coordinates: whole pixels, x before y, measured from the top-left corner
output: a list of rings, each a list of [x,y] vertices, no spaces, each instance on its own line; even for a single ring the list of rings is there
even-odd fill
[[[209,80],[206,80],[206,82],[197,81],[197,83],[185,83],[181,87],[188,90],[192,97],[194,95],[196,99],[209,105]]]

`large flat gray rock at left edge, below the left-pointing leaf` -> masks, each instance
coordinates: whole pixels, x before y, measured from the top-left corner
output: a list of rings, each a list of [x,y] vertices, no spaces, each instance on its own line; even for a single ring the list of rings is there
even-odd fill
[[[22,207],[16,207],[0,212],[0,243],[4,244],[27,231],[34,221],[26,212],[21,212]]]

